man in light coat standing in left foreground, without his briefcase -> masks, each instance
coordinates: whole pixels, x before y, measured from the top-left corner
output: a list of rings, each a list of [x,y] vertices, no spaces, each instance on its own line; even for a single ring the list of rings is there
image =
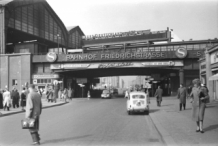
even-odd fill
[[[42,113],[42,101],[41,95],[37,93],[35,85],[29,85],[29,94],[26,101],[26,115],[28,119],[35,119],[35,126],[33,129],[29,129],[33,145],[40,145],[39,137],[39,118]]]

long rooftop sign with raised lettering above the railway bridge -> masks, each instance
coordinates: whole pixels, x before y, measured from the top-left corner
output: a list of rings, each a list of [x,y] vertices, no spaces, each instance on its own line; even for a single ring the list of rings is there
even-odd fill
[[[110,45],[110,44],[123,44],[131,42],[145,42],[147,41],[170,41],[170,31],[129,31],[129,32],[116,32],[116,33],[105,33],[95,34],[83,37],[84,47],[98,46],[98,45]]]

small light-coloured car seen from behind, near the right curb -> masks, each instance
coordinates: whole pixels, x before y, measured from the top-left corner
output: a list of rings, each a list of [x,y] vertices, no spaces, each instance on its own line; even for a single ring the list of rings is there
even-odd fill
[[[127,98],[127,112],[131,115],[133,112],[143,112],[149,115],[149,97],[144,92],[130,92]]]

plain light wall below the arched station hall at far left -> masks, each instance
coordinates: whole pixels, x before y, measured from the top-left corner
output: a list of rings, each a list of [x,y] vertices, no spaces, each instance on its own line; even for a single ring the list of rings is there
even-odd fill
[[[12,80],[16,79],[16,88],[21,91],[25,82],[31,83],[31,55],[13,54],[0,56],[0,88],[4,89],[7,85],[12,89]]]

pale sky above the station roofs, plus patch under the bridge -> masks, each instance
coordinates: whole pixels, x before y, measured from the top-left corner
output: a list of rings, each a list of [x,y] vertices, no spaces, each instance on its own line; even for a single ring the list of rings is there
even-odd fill
[[[173,29],[176,40],[218,37],[218,0],[47,0],[65,26],[85,35]],[[125,77],[125,83],[135,77]]]

